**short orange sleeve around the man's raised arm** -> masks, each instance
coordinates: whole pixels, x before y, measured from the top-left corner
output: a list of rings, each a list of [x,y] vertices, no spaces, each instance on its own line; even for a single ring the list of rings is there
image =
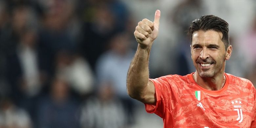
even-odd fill
[[[177,83],[171,75],[149,80],[154,83],[157,102],[155,105],[145,104],[146,111],[163,118],[165,111],[171,112],[171,107],[177,101],[177,91],[172,88],[177,86]]]

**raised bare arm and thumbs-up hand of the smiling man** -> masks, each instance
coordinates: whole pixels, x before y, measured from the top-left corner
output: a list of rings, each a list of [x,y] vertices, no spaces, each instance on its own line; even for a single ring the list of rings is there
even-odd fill
[[[127,74],[129,96],[147,104],[156,103],[155,86],[148,80],[148,63],[153,41],[158,36],[159,20],[160,11],[157,10],[154,22],[143,19],[138,23],[134,35],[139,45]]]

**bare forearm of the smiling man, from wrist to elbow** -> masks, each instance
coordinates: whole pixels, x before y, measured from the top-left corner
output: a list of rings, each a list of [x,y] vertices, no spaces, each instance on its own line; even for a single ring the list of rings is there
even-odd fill
[[[143,92],[148,86],[149,79],[149,53],[150,49],[142,49],[138,46],[137,52],[131,62],[127,74],[127,91],[135,99],[143,97]]]

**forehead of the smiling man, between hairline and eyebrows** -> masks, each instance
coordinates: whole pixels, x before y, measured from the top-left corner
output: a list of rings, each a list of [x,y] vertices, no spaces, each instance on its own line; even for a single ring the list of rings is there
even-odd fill
[[[217,32],[214,30],[208,31],[195,31],[192,35],[192,45],[193,44],[218,44],[221,45],[222,42],[222,32]]]

